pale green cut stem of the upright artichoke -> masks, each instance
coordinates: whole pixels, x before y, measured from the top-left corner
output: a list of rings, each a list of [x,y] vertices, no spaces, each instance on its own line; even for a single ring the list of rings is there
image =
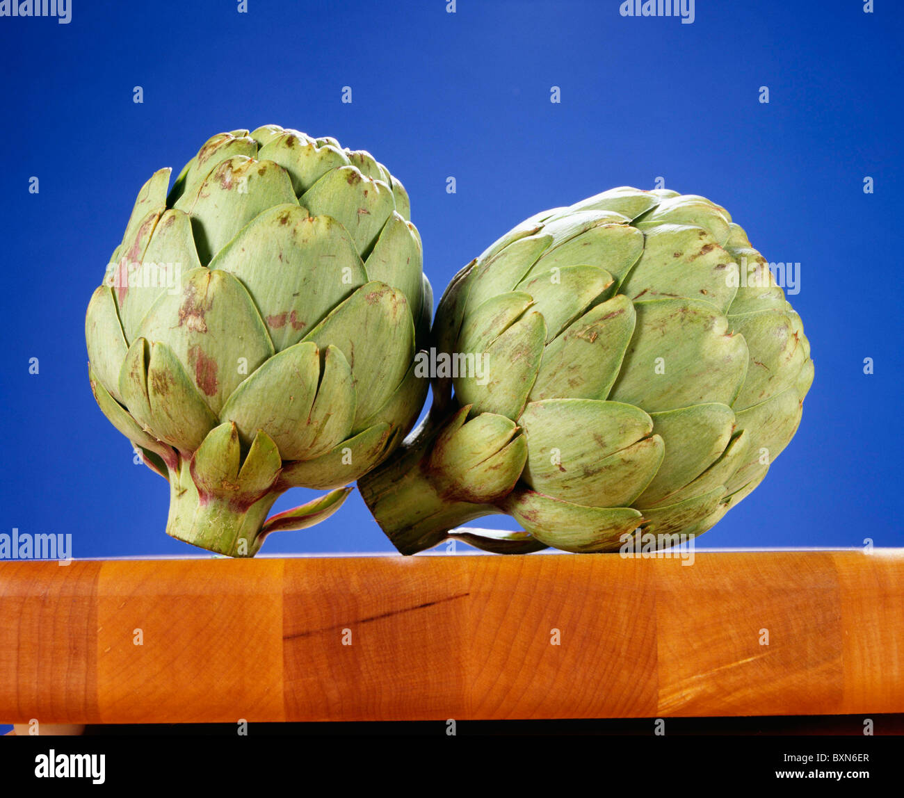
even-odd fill
[[[253,557],[263,542],[259,530],[278,496],[266,493],[250,504],[202,497],[183,462],[179,472],[170,472],[166,534],[227,557]]]

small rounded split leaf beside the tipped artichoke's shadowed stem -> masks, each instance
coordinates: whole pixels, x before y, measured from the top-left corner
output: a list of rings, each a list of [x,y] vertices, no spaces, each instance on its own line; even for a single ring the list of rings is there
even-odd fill
[[[459,410],[439,435],[427,467],[447,499],[496,502],[521,476],[527,441],[511,418],[481,413],[468,421],[470,410]]]

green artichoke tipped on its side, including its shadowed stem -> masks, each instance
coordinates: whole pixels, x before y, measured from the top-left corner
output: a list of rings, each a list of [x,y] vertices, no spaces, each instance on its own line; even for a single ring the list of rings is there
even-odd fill
[[[405,554],[698,535],[766,476],[814,375],[744,230],[664,190],[523,221],[452,280],[431,343],[428,418],[359,482]],[[523,530],[457,529],[499,512]]]

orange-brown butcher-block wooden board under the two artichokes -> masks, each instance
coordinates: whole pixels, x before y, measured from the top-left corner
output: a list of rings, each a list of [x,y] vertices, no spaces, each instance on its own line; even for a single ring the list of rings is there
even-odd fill
[[[5,723],[901,711],[898,550],[0,563]]]

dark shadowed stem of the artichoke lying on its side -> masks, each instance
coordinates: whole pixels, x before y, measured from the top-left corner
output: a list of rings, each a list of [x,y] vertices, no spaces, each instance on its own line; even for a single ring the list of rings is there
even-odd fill
[[[389,460],[358,480],[364,502],[402,554],[431,549],[446,540],[448,530],[502,512],[492,504],[443,497],[438,475],[428,469],[440,428],[428,417]]]

